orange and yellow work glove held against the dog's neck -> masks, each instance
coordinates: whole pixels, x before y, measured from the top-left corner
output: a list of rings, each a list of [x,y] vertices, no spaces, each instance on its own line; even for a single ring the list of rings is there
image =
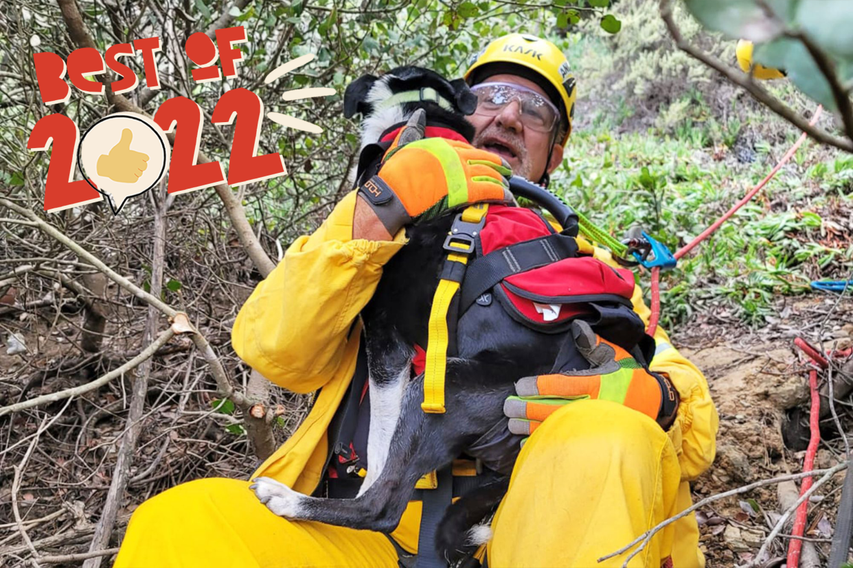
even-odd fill
[[[502,158],[444,138],[406,143],[411,128],[403,128],[379,173],[358,188],[389,233],[447,209],[484,201],[512,202],[508,181],[512,169]]]

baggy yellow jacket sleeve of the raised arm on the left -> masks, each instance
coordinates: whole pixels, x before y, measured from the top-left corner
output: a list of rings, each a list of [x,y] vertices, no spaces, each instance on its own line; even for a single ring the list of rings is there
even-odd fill
[[[310,236],[296,239],[237,313],[235,352],[261,375],[310,393],[334,375],[347,334],[370,300],[382,267],[405,244],[352,238],[356,192]]]

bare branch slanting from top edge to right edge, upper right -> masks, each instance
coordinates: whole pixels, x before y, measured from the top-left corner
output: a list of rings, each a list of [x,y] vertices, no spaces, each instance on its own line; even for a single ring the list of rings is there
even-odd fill
[[[659,8],[660,17],[664,20],[666,29],[670,32],[670,36],[676,42],[676,47],[678,49],[681,49],[693,57],[693,59],[699,60],[706,66],[709,66],[719,72],[723,77],[726,77],[735,85],[746,89],[746,91],[758,102],[767,106],[771,111],[775,112],[781,118],[784,118],[787,122],[792,123],[798,129],[815,139],[815,141],[821,142],[821,144],[826,144],[827,146],[834,146],[840,150],[844,150],[845,152],[853,153],[853,141],[833,136],[821,129],[809,125],[809,122],[805,118],[799,116],[773,95],[770,95],[761,85],[752,81],[751,77],[730,69],[716,57],[705,54],[701,49],[697,49],[688,43],[684,37],[682,37],[682,33],[678,30],[678,26],[676,26],[676,22],[672,17],[672,0],[660,0]]]

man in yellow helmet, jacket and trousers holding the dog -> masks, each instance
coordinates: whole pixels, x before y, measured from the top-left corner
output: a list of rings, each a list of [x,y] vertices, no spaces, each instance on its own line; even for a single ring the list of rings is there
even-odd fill
[[[537,37],[501,37],[475,58],[466,78],[479,96],[471,121],[483,160],[493,163],[489,152],[494,152],[515,172],[547,181],[562,161],[572,129],[574,80],[559,49]],[[424,203],[418,193],[423,188],[409,181],[419,179],[423,169],[418,160],[406,158],[412,153],[397,152],[380,169],[380,176],[385,168],[397,172],[390,185],[406,208],[403,224],[416,222],[436,202],[446,203],[440,195]],[[488,188],[475,191],[472,179],[461,181],[466,183],[467,200],[496,198]],[[419,205],[413,205],[418,198]],[[406,243],[405,230],[397,231],[397,225],[351,192],[322,227],[293,243],[241,308],[232,332],[241,358],[282,387],[298,393],[319,389],[305,422],[252,477],[268,476],[311,494],[333,469],[343,471],[337,465],[349,456],[346,449],[343,454],[336,449],[340,460],[327,467],[328,429],[356,369],[357,315],[373,294],[382,266]],[[613,263],[604,250],[595,249],[595,255]],[[633,301],[647,320],[639,288]],[[667,430],[655,416],[631,407],[629,397],[607,400],[605,388],[583,392],[589,400],[554,404],[550,408],[560,410],[547,418],[514,414],[515,427],[536,433],[519,455],[492,523],[490,566],[621,565],[624,556],[601,564],[596,560],[690,505],[688,480],[714,458],[717,413],[699,370],[670,345],[663,330],[655,339],[651,368],[680,395],[675,422]],[[648,396],[659,397],[653,390],[646,391]],[[540,394],[557,393],[545,389]],[[389,538],[281,519],[257,501],[248,485],[238,479],[200,479],[143,503],[131,519],[116,565],[391,568],[418,546],[421,502],[409,503]],[[689,515],[660,531],[630,565],[702,566],[698,536]]]

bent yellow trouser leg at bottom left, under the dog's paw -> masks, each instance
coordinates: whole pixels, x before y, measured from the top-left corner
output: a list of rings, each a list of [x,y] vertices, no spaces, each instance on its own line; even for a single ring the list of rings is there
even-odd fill
[[[387,536],[282,519],[248,481],[198,479],[136,509],[115,568],[397,568]]]

